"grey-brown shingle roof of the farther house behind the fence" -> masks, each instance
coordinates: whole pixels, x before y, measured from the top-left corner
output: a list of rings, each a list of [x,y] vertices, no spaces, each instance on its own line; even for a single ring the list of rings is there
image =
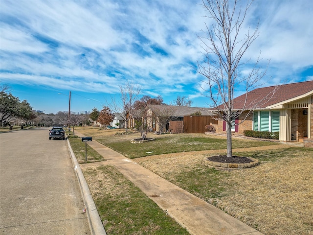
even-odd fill
[[[187,106],[174,106],[174,105],[156,105],[150,104],[148,107],[152,110],[155,109],[174,109],[173,117],[183,117],[190,114],[201,112],[201,115],[212,115],[212,112],[209,108],[199,108],[199,107],[187,107]]]

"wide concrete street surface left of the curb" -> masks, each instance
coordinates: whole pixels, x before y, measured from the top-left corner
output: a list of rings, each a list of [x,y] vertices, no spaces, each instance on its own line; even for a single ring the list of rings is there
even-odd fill
[[[0,134],[0,234],[89,235],[67,141],[49,128]]]

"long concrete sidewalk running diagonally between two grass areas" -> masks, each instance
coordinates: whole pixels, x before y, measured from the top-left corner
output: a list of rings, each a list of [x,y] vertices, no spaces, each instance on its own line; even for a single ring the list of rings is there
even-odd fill
[[[84,135],[77,133],[80,137]],[[262,235],[245,223],[100,144],[88,142],[109,164],[156,202],[192,235]],[[99,163],[100,164],[100,163]]]

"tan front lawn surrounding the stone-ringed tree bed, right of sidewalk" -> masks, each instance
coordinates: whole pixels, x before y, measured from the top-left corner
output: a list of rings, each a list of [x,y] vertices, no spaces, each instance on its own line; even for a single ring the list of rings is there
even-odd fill
[[[88,131],[94,133],[79,130],[85,135]],[[99,131],[96,136],[116,132],[122,130]],[[261,164],[227,171],[209,170],[202,164],[205,156],[223,154],[223,149],[160,154],[133,161],[266,235],[313,235],[313,149],[281,144],[245,151],[236,149],[233,154],[258,158]]]

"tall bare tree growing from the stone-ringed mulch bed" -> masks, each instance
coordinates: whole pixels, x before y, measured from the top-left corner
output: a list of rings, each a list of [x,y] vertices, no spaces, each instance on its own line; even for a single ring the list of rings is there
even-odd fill
[[[241,73],[241,69],[250,60],[243,61],[247,49],[258,37],[258,26],[252,31],[243,32],[247,11],[253,0],[245,1],[242,6],[239,0],[202,0],[208,18],[213,20],[212,25],[206,26],[205,37],[200,37],[201,47],[204,50],[205,63],[198,62],[199,73],[206,77],[203,81],[206,88],[204,95],[210,98],[215,113],[227,125],[227,157],[232,157],[231,127],[233,120],[241,115],[245,117],[241,124],[255,108],[266,103],[274,94],[275,89],[264,97],[245,102],[240,110],[234,110],[234,93],[239,87],[245,86],[246,97],[249,91],[254,90],[261,78],[265,76],[266,69],[261,70],[260,55],[248,74]]]

